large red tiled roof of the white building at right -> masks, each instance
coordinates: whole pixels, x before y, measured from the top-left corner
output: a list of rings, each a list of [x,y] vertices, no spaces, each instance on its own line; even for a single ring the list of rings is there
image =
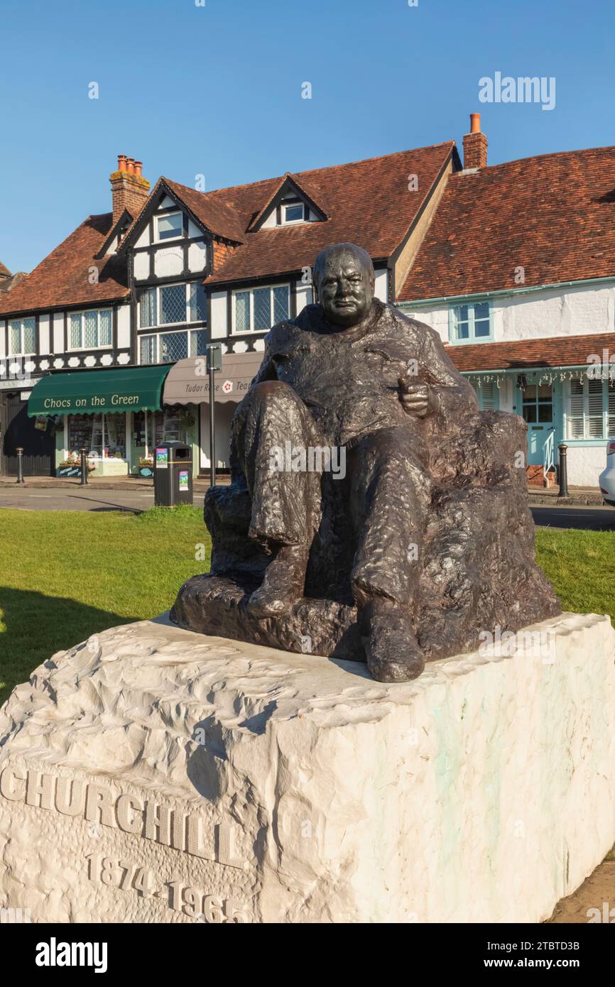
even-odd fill
[[[615,147],[451,175],[400,301],[615,276]]]

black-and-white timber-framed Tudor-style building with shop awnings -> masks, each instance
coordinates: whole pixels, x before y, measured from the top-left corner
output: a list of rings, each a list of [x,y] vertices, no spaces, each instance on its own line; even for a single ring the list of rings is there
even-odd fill
[[[224,467],[264,337],[312,300],[318,252],[360,243],[378,296],[395,298],[459,167],[449,141],[206,193],[161,178],[150,192],[141,163],[120,155],[113,211],[88,217],[0,295],[2,469],[15,471],[22,445],[27,473],[67,473],[86,445],[97,476],[136,473],[163,438],[190,442],[195,470],[206,468],[206,384],[195,361],[217,340]],[[28,404],[43,374],[53,379]],[[137,400],[127,404],[128,393]]]

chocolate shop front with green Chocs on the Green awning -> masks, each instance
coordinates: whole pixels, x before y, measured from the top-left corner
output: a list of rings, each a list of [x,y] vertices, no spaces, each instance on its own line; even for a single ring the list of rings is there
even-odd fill
[[[79,476],[81,449],[90,475],[152,476],[154,450],[163,441],[198,448],[190,409],[163,404],[169,366],[51,373],[33,389],[28,415],[53,421],[56,476]]]

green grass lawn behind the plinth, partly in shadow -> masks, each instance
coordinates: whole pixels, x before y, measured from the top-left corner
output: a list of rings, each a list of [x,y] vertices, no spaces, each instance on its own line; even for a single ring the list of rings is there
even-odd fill
[[[615,533],[536,533],[538,561],[564,609],[615,622]],[[197,561],[198,545],[205,561]],[[0,703],[61,648],[154,617],[209,568],[196,508],[142,514],[0,510]]]

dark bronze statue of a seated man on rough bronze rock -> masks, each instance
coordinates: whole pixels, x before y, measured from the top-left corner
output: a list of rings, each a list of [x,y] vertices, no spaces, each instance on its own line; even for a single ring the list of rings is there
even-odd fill
[[[559,613],[534,562],[525,424],[480,412],[436,332],[374,297],[369,256],[319,254],[318,301],[273,326],[205,498],[211,572],[180,625],[421,673]]]

